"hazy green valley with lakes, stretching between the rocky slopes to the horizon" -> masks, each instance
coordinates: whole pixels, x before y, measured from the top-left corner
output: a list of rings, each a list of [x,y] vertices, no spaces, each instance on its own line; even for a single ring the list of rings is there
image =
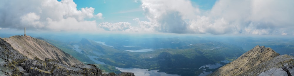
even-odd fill
[[[158,38],[89,36],[80,40],[44,37],[36,38],[60,48],[84,64],[95,64],[103,73],[116,74],[132,70],[135,75],[142,75],[142,72],[145,72],[147,76],[205,76],[245,53],[246,50],[243,48],[247,46],[241,47],[238,45],[243,44],[238,43],[253,45],[260,42],[272,47],[277,53],[293,55],[293,41],[287,39],[278,39],[280,43],[265,43],[266,40],[261,39],[243,42],[235,41],[238,39],[233,38],[228,42],[221,38],[212,40],[209,37],[191,36]]]

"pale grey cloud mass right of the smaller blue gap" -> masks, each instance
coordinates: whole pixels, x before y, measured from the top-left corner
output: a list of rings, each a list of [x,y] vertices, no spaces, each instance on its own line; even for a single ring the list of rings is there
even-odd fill
[[[228,26],[230,31],[224,33],[238,33],[239,31],[243,34],[278,34],[273,31],[294,28],[294,22],[291,21],[294,19],[292,14],[294,11],[291,10],[292,3],[294,1],[290,0],[220,0],[213,6],[208,17],[214,20],[222,18],[227,21],[228,24],[225,26]]]

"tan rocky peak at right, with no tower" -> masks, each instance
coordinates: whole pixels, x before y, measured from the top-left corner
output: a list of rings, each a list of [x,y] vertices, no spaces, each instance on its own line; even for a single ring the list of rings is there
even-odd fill
[[[224,65],[223,67],[220,67],[218,70],[214,71],[210,75],[257,76],[260,75],[262,72],[272,69],[270,73],[267,73],[269,76],[271,76],[275,72],[273,70],[277,70],[275,68],[284,68],[283,70],[285,72],[285,66],[287,66],[286,64],[293,64],[293,59],[293,56],[280,55],[271,48],[265,48],[265,46],[257,45],[253,49],[241,55],[236,60]],[[265,74],[263,73],[262,76],[264,75]]]

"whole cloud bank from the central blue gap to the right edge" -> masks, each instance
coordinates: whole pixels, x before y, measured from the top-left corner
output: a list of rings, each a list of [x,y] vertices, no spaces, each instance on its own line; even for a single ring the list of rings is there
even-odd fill
[[[142,0],[146,18],[167,33],[281,34],[294,29],[293,0],[219,0],[199,11],[188,0]]]

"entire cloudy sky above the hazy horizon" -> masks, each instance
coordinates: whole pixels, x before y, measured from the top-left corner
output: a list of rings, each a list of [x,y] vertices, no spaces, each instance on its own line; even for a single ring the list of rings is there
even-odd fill
[[[1,0],[0,33],[294,35],[294,0]]]

